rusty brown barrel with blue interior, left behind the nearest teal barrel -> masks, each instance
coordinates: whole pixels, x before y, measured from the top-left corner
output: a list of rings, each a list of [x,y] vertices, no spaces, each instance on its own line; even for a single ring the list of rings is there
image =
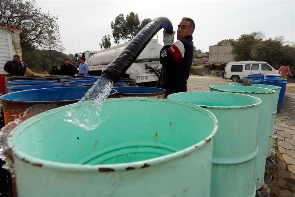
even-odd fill
[[[4,94],[0,97],[3,104],[4,121],[7,125],[26,113],[26,119],[64,105],[78,102],[90,87],[57,87],[24,90]],[[108,98],[116,94],[112,89]]]

